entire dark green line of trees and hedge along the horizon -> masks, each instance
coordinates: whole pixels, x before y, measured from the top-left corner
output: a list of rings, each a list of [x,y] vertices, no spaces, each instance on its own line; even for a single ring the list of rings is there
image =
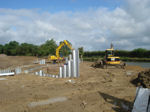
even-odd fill
[[[54,39],[47,40],[41,45],[34,45],[29,43],[20,44],[17,41],[10,41],[5,45],[0,44],[0,54],[11,56],[48,56],[55,55],[57,47],[58,45]],[[83,47],[79,48],[79,52],[83,57],[104,57],[105,55],[105,51],[84,52]],[[66,45],[64,45],[60,50],[60,56],[67,56],[69,53],[70,49]],[[143,48],[137,48],[132,51],[115,50],[115,55],[120,57],[150,58],[150,50]]]

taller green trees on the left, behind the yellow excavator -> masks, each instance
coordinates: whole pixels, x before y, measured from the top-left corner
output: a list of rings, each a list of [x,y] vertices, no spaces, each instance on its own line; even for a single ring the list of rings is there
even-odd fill
[[[10,41],[5,45],[0,44],[0,54],[6,54],[9,56],[48,56],[55,55],[57,47],[58,45],[53,39],[47,40],[41,45],[29,43],[20,44],[17,41]],[[69,50],[70,49],[64,45],[60,50],[60,54],[65,56],[70,52]]]

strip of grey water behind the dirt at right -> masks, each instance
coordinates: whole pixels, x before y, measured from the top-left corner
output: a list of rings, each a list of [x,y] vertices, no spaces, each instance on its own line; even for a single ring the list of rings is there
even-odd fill
[[[127,65],[136,65],[143,68],[150,68],[150,62],[126,62]]]

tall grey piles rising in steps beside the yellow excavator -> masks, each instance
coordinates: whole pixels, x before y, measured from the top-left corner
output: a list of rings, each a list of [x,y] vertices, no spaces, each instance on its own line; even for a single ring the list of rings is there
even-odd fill
[[[59,68],[59,78],[77,78],[79,77],[79,51],[73,50],[66,58],[66,63]]]

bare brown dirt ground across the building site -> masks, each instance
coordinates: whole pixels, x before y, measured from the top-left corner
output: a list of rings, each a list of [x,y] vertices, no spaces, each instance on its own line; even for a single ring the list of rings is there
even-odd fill
[[[6,58],[10,65],[29,64],[36,60],[35,57]],[[6,61],[0,63],[0,67],[4,65],[8,66]],[[92,62],[82,62],[77,79],[33,74],[0,77],[5,79],[0,80],[0,112],[130,112],[136,94],[131,79],[144,69],[138,66],[95,69],[91,65]],[[58,66],[49,64],[48,72],[57,74]],[[59,97],[66,100],[48,101]],[[30,105],[40,101],[49,103]]]

